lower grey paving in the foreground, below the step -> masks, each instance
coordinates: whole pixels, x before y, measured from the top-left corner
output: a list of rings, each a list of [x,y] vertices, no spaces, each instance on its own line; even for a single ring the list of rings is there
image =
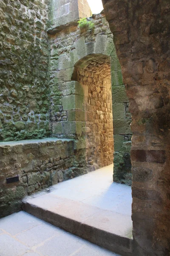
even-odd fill
[[[26,212],[0,219],[0,256],[116,255]]]

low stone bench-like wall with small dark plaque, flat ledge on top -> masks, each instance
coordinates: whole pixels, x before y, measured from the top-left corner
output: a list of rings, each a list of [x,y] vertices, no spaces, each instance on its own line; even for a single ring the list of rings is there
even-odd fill
[[[87,173],[73,140],[23,140],[0,144],[0,217],[19,211],[22,198]],[[7,184],[6,178],[19,176]]]

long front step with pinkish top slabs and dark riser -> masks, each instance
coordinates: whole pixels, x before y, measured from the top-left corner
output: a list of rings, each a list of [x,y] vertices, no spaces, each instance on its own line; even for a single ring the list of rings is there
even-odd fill
[[[23,210],[94,244],[131,255],[129,218],[51,193],[23,201]],[[128,230],[129,229],[129,230]]]

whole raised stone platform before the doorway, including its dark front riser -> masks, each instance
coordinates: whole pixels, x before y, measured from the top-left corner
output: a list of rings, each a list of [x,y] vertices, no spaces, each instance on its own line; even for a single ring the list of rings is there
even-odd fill
[[[112,182],[113,165],[51,186],[24,200],[24,210],[70,233],[130,255],[131,187]],[[91,235],[93,234],[93,236]]]

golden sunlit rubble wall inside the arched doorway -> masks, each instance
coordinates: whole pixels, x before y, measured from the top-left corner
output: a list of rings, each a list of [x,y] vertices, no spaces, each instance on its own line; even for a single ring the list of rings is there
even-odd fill
[[[74,76],[81,83],[84,91],[85,121],[82,123],[82,136],[87,138],[88,165],[95,166],[96,169],[108,166],[113,163],[110,59],[93,57],[88,67],[84,69],[77,67]]]

